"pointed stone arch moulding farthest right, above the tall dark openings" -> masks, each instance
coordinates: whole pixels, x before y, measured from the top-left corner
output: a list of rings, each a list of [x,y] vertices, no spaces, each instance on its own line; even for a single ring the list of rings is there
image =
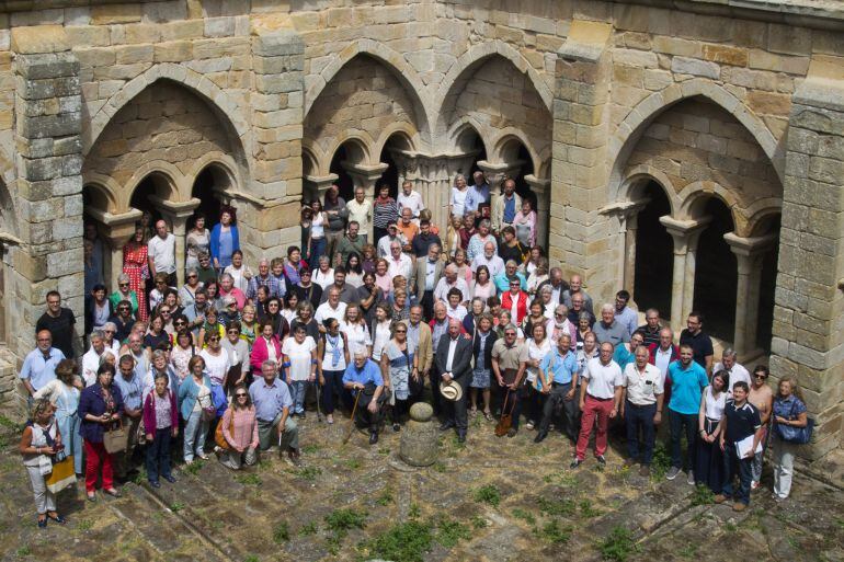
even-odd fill
[[[634,107],[609,137],[607,162],[611,163],[609,200],[619,200],[621,174],[632,150],[645,129],[660,114],[673,105],[695,96],[703,96],[735,117],[756,140],[774,167],[780,183],[784,180],[784,162],[777,154],[777,140],[765,123],[725,88],[700,78],[674,83],[654,92]]]

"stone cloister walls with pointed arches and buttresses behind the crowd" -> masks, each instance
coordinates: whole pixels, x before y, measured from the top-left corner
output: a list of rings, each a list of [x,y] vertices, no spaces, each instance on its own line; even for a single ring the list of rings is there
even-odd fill
[[[518,179],[596,302],[624,287],[675,329],[700,309],[741,358],[799,376],[811,456],[842,443],[841,8],[77,4],[0,13],[10,363],[48,290],[81,318],[83,217],[113,283],[145,210],[183,254],[196,209],[232,204],[254,263],[298,243],[301,199],[334,182],[410,180],[445,229],[455,175],[480,170]]]

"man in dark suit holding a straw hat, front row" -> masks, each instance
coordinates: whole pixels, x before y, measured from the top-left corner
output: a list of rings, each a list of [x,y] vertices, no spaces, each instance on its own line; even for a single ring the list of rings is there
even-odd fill
[[[441,337],[436,346],[436,367],[442,375],[441,380],[449,382],[452,380],[460,385],[463,395],[455,402],[446,401],[445,415],[446,421],[440,426],[444,432],[452,427],[457,428],[457,440],[466,440],[466,429],[469,420],[466,412],[466,401],[468,397],[469,382],[471,381],[471,341],[460,334],[460,322],[455,319],[448,320],[448,336]]]

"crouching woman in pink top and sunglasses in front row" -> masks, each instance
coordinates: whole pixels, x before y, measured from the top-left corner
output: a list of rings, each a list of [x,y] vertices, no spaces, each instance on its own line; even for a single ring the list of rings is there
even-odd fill
[[[254,464],[258,460],[258,422],[246,385],[235,387],[231,408],[223,414],[220,427],[228,445],[219,451],[220,463],[231,470]]]

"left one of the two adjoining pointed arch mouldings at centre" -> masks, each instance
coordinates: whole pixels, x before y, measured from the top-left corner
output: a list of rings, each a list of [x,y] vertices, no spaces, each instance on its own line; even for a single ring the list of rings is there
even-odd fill
[[[373,39],[355,41],[340,53],[332,56],[331,61],[317,74],[315,83],[305,92],[305,113],[307,119],[313,103],[331,82],[331,80],[358,55],[368,55],[380,61],[396,79],[404,87],[404,90],[415,107],[415,117],[419,130],[423,134],[430,131],[431,113],[427,96],[424,94],[424,82],[417,70],[408,64],[404,57],[397,50]]]

